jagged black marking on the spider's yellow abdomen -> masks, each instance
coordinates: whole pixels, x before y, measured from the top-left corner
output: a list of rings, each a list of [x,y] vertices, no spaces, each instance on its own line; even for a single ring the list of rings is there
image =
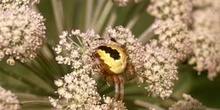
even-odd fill
[[[109,53],[110,57],[114,58],[115,60],[120,59],[119,52],[111,47],[99,46],[98,49],[104,50],[105,53]]]

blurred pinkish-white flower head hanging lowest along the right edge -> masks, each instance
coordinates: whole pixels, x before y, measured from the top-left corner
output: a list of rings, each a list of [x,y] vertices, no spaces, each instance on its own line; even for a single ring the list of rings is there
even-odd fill
[[[199,73],[208,70],[208,78],[213,78],[220,72],[220,50],[215,35],[210,30],[196,30],[192,32],[193,55],[189,64],[195,65]]]

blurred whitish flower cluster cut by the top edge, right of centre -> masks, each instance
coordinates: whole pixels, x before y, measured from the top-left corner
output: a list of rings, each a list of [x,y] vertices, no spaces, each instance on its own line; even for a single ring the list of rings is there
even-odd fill
[[[191,0],[151,0],[147,11],[160,20],[191,22]]]

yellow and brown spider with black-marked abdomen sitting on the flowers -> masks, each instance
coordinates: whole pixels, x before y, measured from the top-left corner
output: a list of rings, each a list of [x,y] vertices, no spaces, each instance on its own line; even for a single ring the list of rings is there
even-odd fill
[[[116,42],[113,38],[111,38],[111,41]],[[132,76],[136,74],[134,66],[129,63],[125,47],[114,44],[100,45],[95,49],[92,59],[96,62],[95,67],[100,75],[107,82],[114,83],[114,98],[117,100],[120,96],[120,100],[123,100],[124,82],[131,80]]]

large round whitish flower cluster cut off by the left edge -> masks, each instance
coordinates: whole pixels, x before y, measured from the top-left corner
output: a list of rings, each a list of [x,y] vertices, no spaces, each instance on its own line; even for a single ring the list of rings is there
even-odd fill
[[[35,58],[45,38],[43,16],[26,5],[6,9],[4,5],[11,4],[0,6],[0,60],[7,57],[7,63],[14,65],[15,59],[25,62]]]

